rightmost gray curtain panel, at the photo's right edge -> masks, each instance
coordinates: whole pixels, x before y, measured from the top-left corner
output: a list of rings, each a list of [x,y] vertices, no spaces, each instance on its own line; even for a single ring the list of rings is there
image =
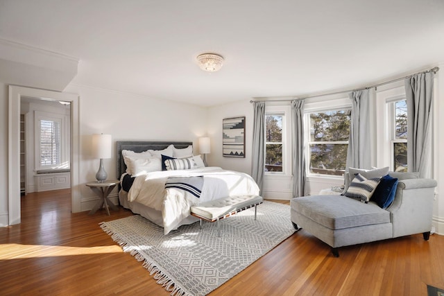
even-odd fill
[[[433,102],[433,73],[420,73],[404,80],[407,97],[407,164],[420,177],[432,175],[430,141]]]

